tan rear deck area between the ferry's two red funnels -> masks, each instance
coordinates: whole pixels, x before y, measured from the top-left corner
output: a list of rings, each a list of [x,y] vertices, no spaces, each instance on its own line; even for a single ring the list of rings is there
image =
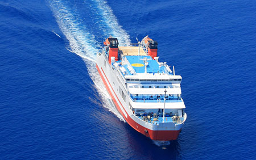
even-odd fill
[[[139,49],[139,47],[118,47],[119,52],[125,56],[147,56],[146,52],[142,49],[142,47]]]

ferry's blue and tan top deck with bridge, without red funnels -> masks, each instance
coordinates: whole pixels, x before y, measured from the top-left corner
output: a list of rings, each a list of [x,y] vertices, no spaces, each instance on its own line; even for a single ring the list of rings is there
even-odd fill
[[[128,81],[181,81],[180,75],[175,75],[166,62],[159,62],[159,57],[153,59],[146,51],[143,47],[119,47],[118,61],[113,60],[112,66]]]

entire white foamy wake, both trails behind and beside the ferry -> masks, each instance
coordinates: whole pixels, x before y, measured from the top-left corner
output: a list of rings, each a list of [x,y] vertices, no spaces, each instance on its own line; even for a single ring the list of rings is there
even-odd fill
[[[67,49],[72,53],[76,53],[84,60],[90,78],[92,78],[94,86],[102,98],[103,106],[113,112],[120,120],[125,121],[122,115],[114,107],[110,95],[105,89],[104,83],[96,69],[96,54],[99,52],[102,42],[95,40],[95,35],[92,35],[89,32],[89,29],[86,28],[86,24],[83,23],[83,20],[79,16],[79,12],[67,7],[67,3],[55,0],[48,1],[48,4],[53,12],[53,16],[55,16],[60,30],[69,41],[69,48]],[[104,35],[117,37],[120,43],[130,43],[129,35],[127,35],[121,26],[119,26],[117,19],[106,2],[96,1],[96,5],[98,5],[98,12],[102,14],[101,17],[104,18],[103,26],[107,28],[107,30],[103,30]],[[108,30],[112,32],[108,32]]]

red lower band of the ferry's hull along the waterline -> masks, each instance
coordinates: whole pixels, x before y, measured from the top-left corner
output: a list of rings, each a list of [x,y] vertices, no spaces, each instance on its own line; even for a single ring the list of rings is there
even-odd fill
[[[105,78],[102,75],[101,70],[98,68],[98,65],[96,65],[96,68],[98,70],[98,73],[100,73],[101,79],[104,82],[104,85],[106,86],[106,89],[108,90],[110,96],[112,97],[112,100],[113,100],[115,106],[117,107],[118,111],[121,113],[123,118],[126,120],[126,122],[131,127],[133,127],[135,130],[137,130],[139,133],[142,133],[145,136],[150,137],[151,140],[170,141],[170,140],[176,140],[177,139],[177,137],[179,136],[180,130],[151,130],[151,129],[143,127],[142,125],[139,125],[137,122],[135,122],[133,119],[131,119],[129,114],[125,111],[125,108],[122,106],[122,103],[119,101],[117,95],[115,95],[117,97],[117,99],[114,98],[114,95],[110,91],[108,83],[105,81]],[[104,71],[103,71],[103,74],[105,75]],[[105,75],[105,77],[106,77],[106,75]],[[106,80],[109,81],[108,79],[106,79]],[[110,86],[110,87],[112,87],[112,86]],[[112,90],[113,90],[113,88],[112,88]],[[117,100],[119,101],[121,106],[118,105]],[[123,107],[123,110],[127,114],[127,118],[126,118],[125,114],[122,112],[120,107]]]

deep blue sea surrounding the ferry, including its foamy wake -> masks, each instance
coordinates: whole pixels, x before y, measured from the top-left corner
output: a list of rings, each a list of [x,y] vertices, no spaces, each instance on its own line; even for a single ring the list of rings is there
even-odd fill
[[[256,159],[256,1],[0,1],[0,159]],[[106,37],[158,41],[187,121],[152,141],[95,68]]]

